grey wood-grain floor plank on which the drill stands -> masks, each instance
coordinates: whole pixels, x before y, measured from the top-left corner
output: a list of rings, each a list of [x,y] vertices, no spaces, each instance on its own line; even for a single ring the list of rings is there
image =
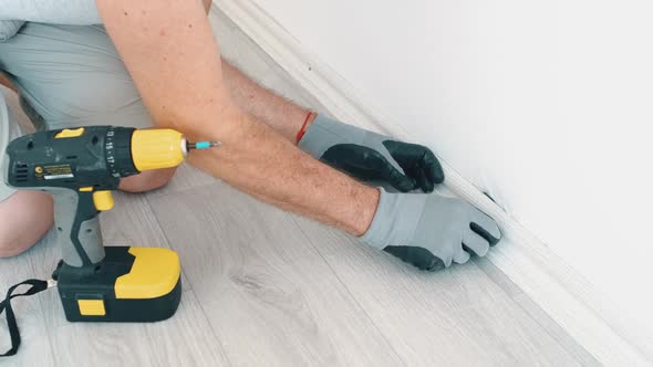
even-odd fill
[[[117,192],[115,201],[114,211],[101,217],[105,241],[168,247],[143,196]],[[54,235],[46,240],[29,253],[38,274],[50,274],[60,259]],[[183,282],[186,291],[179,310],[173,318],[155,324],[69,323],[56,292],[48,292],[40,298],[42,337],[49,337],[56,350],[53,360],[59,366],[81,360],[96,366],[228,365],[190,283]]]

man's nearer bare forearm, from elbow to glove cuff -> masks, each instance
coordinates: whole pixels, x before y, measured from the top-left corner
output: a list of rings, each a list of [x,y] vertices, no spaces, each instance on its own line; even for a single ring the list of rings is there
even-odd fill
[[[366,231],[379,202],[376,189],[313,159],[269,126],[251,123],[245,114],[237,118],[247,119],[237,144],[197,151],[189,161],[282,209],[355,235]]]

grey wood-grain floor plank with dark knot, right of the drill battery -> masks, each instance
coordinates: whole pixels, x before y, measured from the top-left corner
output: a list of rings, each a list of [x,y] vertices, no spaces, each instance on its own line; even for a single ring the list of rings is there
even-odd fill
[[[148,200],[235,365],[397,365],[287,213],[225,184]]]

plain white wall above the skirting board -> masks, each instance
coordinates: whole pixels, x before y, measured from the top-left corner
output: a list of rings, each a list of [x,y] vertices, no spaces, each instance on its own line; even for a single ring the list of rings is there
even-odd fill
[[[653,324],[650,1],[255,1]]]

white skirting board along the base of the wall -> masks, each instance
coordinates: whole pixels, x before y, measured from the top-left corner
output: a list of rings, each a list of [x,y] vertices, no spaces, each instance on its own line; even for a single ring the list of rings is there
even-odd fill
[[[251,0],[214,3],[248,34],[333,117],[400,139],[418,141],[400,124],[383,116],[343,77],[315,57]],[[443,162],[446,186],[495,218],[506,240],[489,260],[564,328],[600,363],[608,366],[650,365],[653,334],[620,312],[590,282],[568,266],[542,241]]]

